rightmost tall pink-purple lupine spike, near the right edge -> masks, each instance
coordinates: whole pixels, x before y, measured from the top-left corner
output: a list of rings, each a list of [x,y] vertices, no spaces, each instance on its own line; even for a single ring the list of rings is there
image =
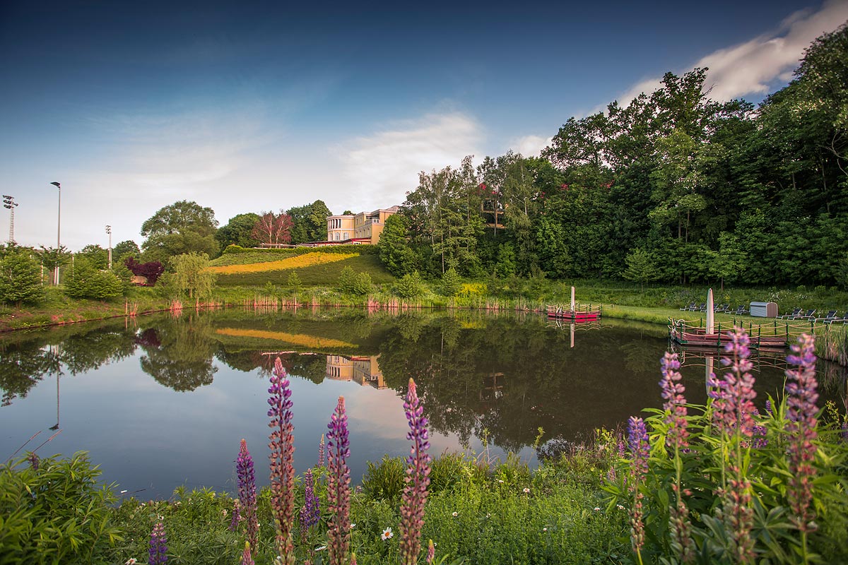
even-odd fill
[[[818,401],[816,381],[815,338],[804,334],[798,343],[791,346],[792,353],[786,357],[787,363],[796,368],[786,371],[786,406],[789,421],[786,431],[789,434],[789,482],[787,498],[792,512],[791,522],[804,534],[816,530],[813,519],[816,513],[811,506],[812,481],[816,478],[816,468],[812,461],[816,457]]]

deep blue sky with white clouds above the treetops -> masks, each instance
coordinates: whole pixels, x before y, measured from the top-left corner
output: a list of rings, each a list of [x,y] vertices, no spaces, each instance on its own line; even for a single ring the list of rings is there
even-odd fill
[[[221,225],[318,199],[388,208],[420,171],[538,155],[668,71],[706,66],[711,97],[761,102],[848,20],[848,0],[404,4],[4,0],[15,241],[106,247],[111,225],[141,245],[180,200]]]

